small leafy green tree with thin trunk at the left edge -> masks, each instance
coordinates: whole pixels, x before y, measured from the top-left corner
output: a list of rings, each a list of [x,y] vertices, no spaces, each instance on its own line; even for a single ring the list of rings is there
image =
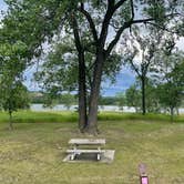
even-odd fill
[[[0,106],[8,111],[12,129],[12,113],[29,108],[28,90],[22,84],[27,45],[20,41],[13,44],[6,41],[0,42]]]

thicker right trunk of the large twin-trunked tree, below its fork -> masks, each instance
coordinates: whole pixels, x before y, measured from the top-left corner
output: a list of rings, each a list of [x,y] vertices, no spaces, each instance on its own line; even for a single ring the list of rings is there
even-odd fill
[[[89,119],[86,131],[91,134],[98,133],[98,101],[100,94],[100,84],[102,80],[102,69],[104,62],[103,52],[98,53],[93,73],[93,83],[90,94]]]

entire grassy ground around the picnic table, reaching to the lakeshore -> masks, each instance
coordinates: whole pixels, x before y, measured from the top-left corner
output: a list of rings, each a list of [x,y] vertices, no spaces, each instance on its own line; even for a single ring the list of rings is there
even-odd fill
[[[8,131],[3,123],[8,116],[1,113],[0,183],[137,184],[137,165],[145,163],[151,184],[183,184],[183,116],[173,124],[164,115],[141,117],[100,114],[98,137],[106,139],[105,147],[115,150],[112,164],[63,163],[68,141],[86,137],[78,131],[75,113],[18,112],[13,131]]]

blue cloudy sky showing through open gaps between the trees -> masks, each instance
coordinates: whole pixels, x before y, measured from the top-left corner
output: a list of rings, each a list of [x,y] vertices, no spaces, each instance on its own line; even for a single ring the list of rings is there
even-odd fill
[[[7,10],[7,6],[3,0],[0,0],[0,11]],[[2,17],[0,16],[0,20]],[[180,39],[177,42],[177,47],[181,50],[184,50],[184,38]],[[38,91],[38,84],[32,81],[33,72],[35,71],[35,67],[29,68],[25,71],[25,85],[31,91]],[[122,68],[121,72],[116,74],[116,82],[111,84],[110,81],[105,81],[102,83],[102,95],[104,96],[113,96],[116,93],[124,92],[126,89],[130,88],[135,82],[135,73],[129,69]]]

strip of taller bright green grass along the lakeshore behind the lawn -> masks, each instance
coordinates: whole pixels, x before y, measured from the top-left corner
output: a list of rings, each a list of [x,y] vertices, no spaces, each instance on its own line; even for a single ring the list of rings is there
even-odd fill
[[[165,114],[146,114],[141,113],[120,113],[120,112],[102,112],[99,113],[99,121],[125,121],[125,120],[144,120],[144,121],[160,121],[168,122],[170,115]],[[4,112],[0,112],[0,122],[8,122],[9,116]],[[13,113],[14,123],[50,123],[50,122],[76,122],[76,112],[32,112],[19,111]],[[174,122],[184,122],[184,114],[175,116]]]

